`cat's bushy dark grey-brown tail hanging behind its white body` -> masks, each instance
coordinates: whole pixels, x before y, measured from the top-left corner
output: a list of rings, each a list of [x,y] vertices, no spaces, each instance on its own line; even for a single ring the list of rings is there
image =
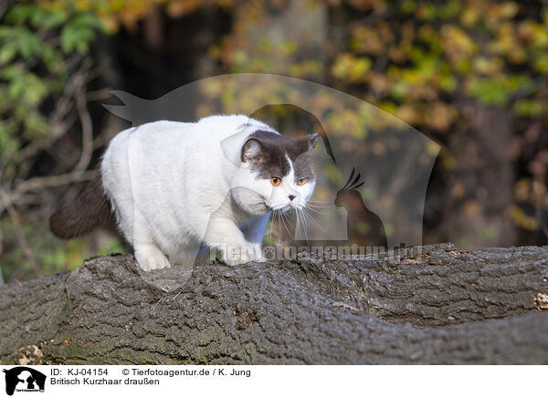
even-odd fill
[[[116,231],[116,220],[103,191],[100,173],[72,204],[49,217],[49,229],[62,239],[85,235],[98,226]]]

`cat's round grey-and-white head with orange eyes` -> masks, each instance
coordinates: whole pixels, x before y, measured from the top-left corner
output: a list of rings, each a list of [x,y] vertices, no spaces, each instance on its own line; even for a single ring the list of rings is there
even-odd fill
[[[255,131],[240,152],[235,199],[253,213],[300,209],[314,191],[316,176],[311,152],[318,134],[285,137],[273,131]]]

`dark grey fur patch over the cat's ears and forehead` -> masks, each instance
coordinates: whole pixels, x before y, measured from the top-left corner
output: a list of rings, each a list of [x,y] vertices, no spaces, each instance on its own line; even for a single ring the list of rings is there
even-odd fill
[[[258,178],[267,179],[288,175],[289,158],[296,177],[313,179],[311,150],[318,138],[318,134],[290,138],[273,131],[255,131],[242,146],[241,161],[250,162]]]

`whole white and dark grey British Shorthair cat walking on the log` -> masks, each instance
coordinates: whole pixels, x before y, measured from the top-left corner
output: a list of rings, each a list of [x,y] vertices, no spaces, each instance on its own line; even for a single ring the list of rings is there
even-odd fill
[[[100,176],[51,216],[50,228],[71,238],[117,227],[143,270],[194,263],[200,246],[219,250],[228,265],[260,261],[270,212],[302,208],[311,197],[317,140],[285,137],[244,115],[121,131]]]

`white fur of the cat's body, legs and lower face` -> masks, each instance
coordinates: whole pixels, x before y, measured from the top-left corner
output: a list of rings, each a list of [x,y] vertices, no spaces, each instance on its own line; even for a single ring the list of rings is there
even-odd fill
[[[114,137],[101,162],[102,183],[142,269],[193,264],[202,243],[220,249],[230,265],[262,259],[270,208],[303,206],[314,184],[297,185],[292,167],[279,186],[257,179],[240,160],[257,130],[273,131],[243,115],[210,116],[155,121]],[[231,257],[232,248],[242,250]]]

